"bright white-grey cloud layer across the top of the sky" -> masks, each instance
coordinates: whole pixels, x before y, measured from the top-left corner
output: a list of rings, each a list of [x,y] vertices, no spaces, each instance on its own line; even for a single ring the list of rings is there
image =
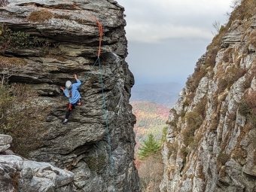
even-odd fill
[[[230,5],[223,0],[119,0],[118,3],[126,10],[128,41],[148,43],[181,37],[210,40],[212,23],[224,20]]]

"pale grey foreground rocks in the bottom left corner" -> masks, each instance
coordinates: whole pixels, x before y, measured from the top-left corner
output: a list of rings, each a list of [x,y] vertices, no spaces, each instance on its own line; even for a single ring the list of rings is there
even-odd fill
[[[0,147],[10,145],[11,136],[0,135]],[[0,154],[1,191],[72,191],[74,173],[50,163],[23,160],[6,148]]]

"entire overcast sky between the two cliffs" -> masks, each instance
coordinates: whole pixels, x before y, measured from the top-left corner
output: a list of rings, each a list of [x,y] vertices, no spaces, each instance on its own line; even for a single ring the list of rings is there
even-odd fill
[[[136,85],[177,82],[187,76],[215,32],[227,23],[232,0],[117,0],[125,8],[126,62]]]

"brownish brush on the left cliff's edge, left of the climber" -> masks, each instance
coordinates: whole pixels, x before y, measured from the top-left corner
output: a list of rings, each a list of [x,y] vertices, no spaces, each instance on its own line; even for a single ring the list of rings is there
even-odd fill
[[[41,145],[38,138],[48,110],[38,104],[38,93],[29,85],[8,84],[12,69],[23,65],[23,59],[0,56],[0,133],[12,136],[11,149],[27,157]]]

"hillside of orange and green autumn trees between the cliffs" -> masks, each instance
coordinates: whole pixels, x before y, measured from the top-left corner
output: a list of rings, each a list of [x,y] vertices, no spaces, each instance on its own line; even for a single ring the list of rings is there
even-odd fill
[[[130,102],[133,106],[133,114],[136,115],[136,124],[134,131],[136,133],[136,149],[139,143],[153,133],[156,139],[160,140],[163,127],[166,126],[166,119],[169,115],[169,108],[154,102]]]

